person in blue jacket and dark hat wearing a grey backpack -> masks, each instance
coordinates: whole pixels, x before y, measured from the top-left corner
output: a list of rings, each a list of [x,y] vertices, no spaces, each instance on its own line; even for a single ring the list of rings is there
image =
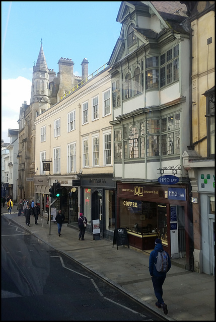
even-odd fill
[[[164,303],[163,300],[163,284],[165,281],[165,278],[167,276],[167,273],[165,272],[158,272],[156,269],[155,264],[157,263],[157,258],[158,258],[158,252],[163,252],[163,246],[162,246],[162,241],[159,238],[156,238],[155,240],[155,249],[150,253],[150,258],[149,258],[149,272],[152,277],[152,283],[155,291],[155,296],[157,297],[158,301],[155,303],[155,305],[158,308],[163,307],[164,313],[168,313],[167,309],[167,304]],[[171,260],[170,256],[168,255],[168,271],[171,268]]]

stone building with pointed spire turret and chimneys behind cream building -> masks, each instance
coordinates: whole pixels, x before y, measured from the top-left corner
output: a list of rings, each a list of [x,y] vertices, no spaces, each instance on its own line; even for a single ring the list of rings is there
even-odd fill
[[[35,169],[35,118],[56,104],[67,91],[88,76],[88,60],[83,59],[82,76],[74,75],[74,62],[68,58],[58,61],[59,72],[48,69],[42,43],[36,65],[33,66],[30,105],[26,102],[20,108],[19,124],[19,198],[34,199]]]

